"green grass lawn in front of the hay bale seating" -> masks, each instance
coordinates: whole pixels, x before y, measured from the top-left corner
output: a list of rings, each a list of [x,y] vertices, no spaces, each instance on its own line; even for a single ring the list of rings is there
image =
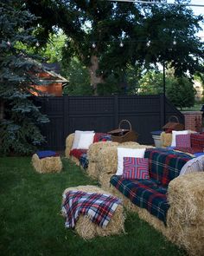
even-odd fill
[[[37,174],[29,157],[0,158],[0,254],[10,255],[186,255],[161,233],[127,213],[126,234],[82,240],[64,227],[61,194],[92,184],[80,167],[63,159],[61,174]]]

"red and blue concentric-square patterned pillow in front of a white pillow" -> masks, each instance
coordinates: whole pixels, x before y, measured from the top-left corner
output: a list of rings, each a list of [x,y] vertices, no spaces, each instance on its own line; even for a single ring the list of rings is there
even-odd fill
[[[124,157],[124,179],[150,179],[147,158]]]

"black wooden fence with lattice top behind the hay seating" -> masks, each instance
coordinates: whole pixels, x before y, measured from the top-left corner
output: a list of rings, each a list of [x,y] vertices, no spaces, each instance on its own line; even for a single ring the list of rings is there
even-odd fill
[[[50,120],[41,128],[47,140],[44,148],[57,151],[65,149],[67,135],[76,129],[107,132],[127,119],[139,134],[138,142],[152,144],[150,132],[160,130],[170,115],[184,121],[163,95],[35,97],[34,101]]]

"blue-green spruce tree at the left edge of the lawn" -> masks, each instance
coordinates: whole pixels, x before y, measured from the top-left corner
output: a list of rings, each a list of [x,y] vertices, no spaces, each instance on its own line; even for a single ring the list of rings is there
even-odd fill
[[[36,43],[30,27],[35,16],[14,0],[2,0],[0,13],[0,150],[29,154],[44,140],[37,125],[48,119],[30,99],[39,67],[16,43]]]

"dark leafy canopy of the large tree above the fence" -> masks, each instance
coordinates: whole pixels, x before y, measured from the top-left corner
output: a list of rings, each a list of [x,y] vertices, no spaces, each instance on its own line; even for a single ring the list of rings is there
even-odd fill
[[[64,57],[69,61],[77,56],[86,66],[95,95],[112,74],[123,82],[127,65],[148,67],[169,62],[175,75],[201,71],[203,43],[195,32],[200,29],[202,16],[194,16],[184,4],[161,6],[99,0],[25,3],[35,16],[40,16],[36,21],[40,24],[40,43],[45,43],[56,28],[64,31]]]

